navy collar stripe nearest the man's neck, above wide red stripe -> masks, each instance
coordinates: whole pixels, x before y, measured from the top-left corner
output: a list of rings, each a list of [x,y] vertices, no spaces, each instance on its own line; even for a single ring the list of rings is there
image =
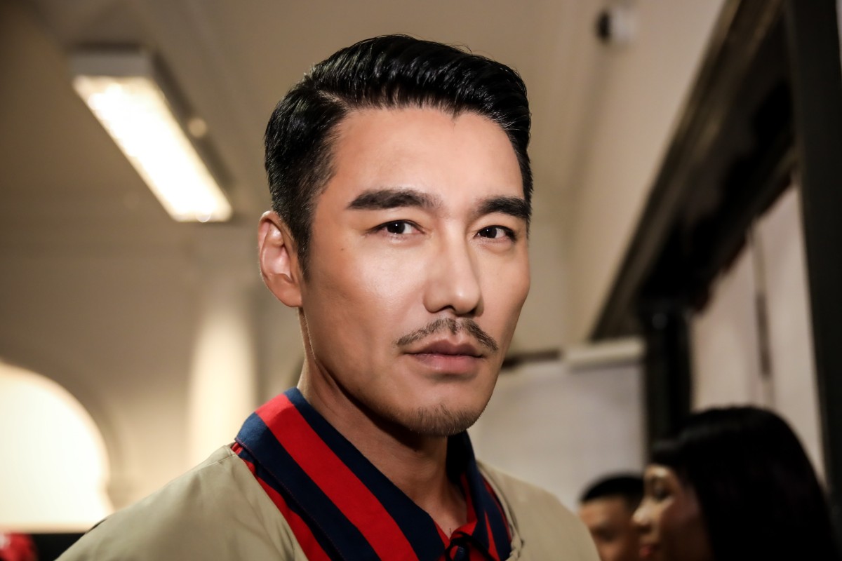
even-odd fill
[[[328,445],[337,457],[370,490],[392,519],[401,528],[403,535],[421,561],[436,561],[445,551],[445,544],[439,537],[435,521],[424,509],[416,505],[402,490],[398,489],[382,472],[325,421],[296,388],[284,393],[313,431]]]

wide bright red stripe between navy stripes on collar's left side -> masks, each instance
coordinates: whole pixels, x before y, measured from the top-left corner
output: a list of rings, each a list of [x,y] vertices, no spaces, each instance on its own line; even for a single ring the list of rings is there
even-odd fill
[[[278,426],[273,419],[282,411],[284,429],[277,431]],[[257,414],[301,469],[360,530],[378,556],[417,558],[401,528],[380,501],[313,431],[285,395],[281,394],[260,407]]]

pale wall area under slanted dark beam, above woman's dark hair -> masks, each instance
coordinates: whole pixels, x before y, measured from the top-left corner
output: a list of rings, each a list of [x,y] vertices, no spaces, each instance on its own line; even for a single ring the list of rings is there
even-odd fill
[[[754,243],[717,279],[691,321],[693,408],[754,404],[788,421],[823,473],[807,269],[797,188],[753,228]],[[758,296],[765,301],[769,361],[760,355]]]

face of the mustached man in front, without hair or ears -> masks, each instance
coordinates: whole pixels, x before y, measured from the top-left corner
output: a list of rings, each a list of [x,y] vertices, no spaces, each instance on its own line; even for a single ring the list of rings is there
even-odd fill
[[[334,414],[465,430],[529,290],[508,137],[476,114],[359,110],[338,126],[333,172],[301,280],[309,389]]]

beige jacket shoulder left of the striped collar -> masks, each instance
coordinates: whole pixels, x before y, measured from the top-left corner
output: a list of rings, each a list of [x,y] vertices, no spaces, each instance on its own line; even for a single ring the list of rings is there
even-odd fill
[[[61,561],[185,558],[304,558],[283,516],[230,447],[100,521]]]

